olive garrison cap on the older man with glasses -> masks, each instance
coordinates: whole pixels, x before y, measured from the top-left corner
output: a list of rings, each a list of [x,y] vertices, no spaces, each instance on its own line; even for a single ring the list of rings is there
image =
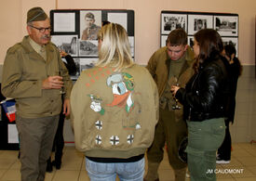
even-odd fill
[[[37,21],[37,20],[46,20],[46,19],[47,19],[47,14],[39,6],[31,8],[27,13],[27,23],[32,21]]]

